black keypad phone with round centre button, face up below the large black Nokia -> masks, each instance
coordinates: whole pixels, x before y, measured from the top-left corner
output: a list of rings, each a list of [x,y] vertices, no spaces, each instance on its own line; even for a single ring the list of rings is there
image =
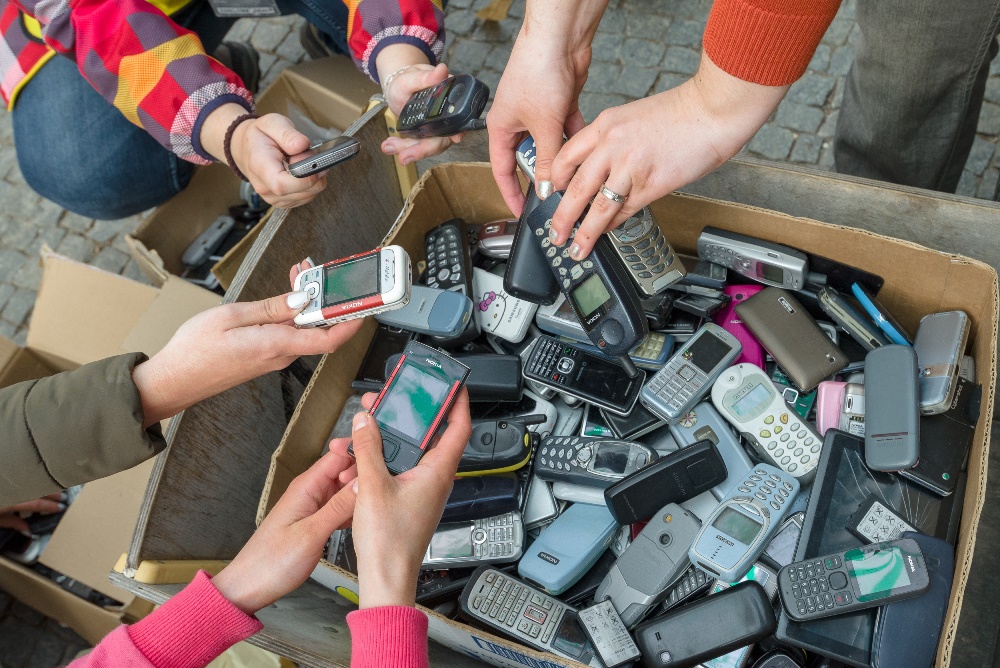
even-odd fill
[[[646,374],[630,377],[603,355],[582,350],[552,336],[540,336],[524,363],[525,379],[578,397],[613,413],[628,415],[635,406]]]

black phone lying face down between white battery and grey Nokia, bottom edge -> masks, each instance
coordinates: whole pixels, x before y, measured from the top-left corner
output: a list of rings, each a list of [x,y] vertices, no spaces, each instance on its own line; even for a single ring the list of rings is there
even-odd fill
[[[762,640],[776,626],[764,588],[748,581],[643,622],[635,641],[647,668],[691,668]]]

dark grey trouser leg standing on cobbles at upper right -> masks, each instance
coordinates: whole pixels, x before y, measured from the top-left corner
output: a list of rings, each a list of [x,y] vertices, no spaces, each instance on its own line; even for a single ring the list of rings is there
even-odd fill
[[[857,20],[837,171],[954,192],[997,54],[1000,0],[858,0]]]

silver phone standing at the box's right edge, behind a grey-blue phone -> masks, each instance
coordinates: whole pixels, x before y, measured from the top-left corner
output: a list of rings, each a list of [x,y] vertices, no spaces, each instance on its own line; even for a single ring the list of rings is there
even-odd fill
[[[913,350],[920,365],[921,415],[943,413],[951,406],[969,330],[964,311],[932,313],[920,319]]]

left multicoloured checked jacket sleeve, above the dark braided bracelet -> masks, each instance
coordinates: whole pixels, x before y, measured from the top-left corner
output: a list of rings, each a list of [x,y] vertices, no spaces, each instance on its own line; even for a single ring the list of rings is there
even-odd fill
[[[248,111],[253,96],[210,58],[201,40],[146,0],[15,0],[38,19],[45,43],[128,120],[178,157],[213,161],[201,125],[222,104]]]

